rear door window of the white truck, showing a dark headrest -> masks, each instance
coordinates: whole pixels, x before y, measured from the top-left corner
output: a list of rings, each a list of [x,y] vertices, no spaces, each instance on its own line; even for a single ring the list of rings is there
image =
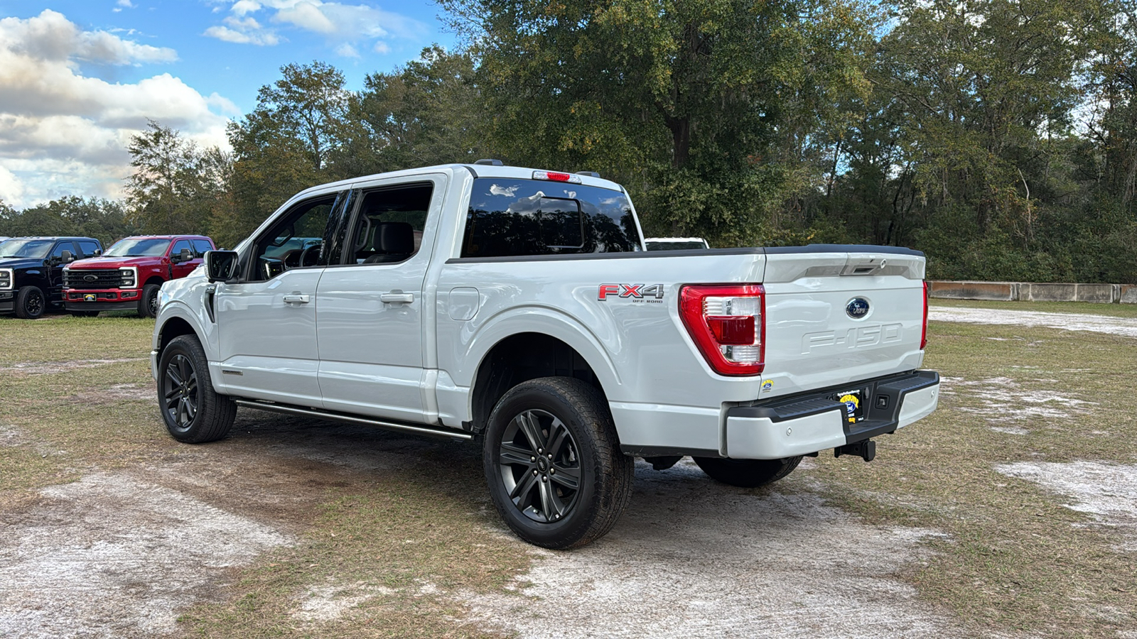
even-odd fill
[[[434,185],[400,184],[365,191],[350,236],[348,264],[384,264],[409,259],[422,246]]]

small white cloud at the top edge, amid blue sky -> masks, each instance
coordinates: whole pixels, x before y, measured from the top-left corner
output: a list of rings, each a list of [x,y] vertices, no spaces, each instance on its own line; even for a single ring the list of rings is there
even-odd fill
[[[259,26],[255,30],[232,24],[234,19],[251,19],[251,16],[257,14],[263,20],[281,25],[283,28],[322,35],[338,53],[343,50],[345,44],[348,44],[358,55],[357,45],[360,43],[376,41],[371,49],[385,53],[390,51],[390,47],[379,39],[415,39],[428,31],[426,25],[418,20],[383,11],[370,5],[345,5],[322,0],[238,0],[232,3],[229,11],[230,17],[224,20],[225,26],[211,26],[205,34],[227,42],[269,44],[265,39],[257,38],[263,33]]]

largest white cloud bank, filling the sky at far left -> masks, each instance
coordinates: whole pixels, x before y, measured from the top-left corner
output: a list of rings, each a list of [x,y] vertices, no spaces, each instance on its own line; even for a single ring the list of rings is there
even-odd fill
[[[82,31],[51,10],[0,19],[0,199],[25,208],[72,194],[121,197],[131,171],[126,146],[148,118],[226,147],[225,115],[239,115],[231,101],[169,74],[109,83],[80,66],[175,59],[172,49]]]

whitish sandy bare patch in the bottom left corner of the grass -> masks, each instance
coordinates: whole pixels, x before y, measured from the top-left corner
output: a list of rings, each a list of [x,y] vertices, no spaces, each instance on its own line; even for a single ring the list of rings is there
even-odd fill
[[[41,491],[0,526],[0,637],[148,637],[223,569],[289,543],[275,530],[125,475]]]

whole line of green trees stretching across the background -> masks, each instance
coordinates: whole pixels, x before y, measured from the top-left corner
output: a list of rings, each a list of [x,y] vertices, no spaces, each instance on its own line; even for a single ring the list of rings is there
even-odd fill
[[[649,235],[1137,283],[1137,0],[441,5],[456,50],[358,91],[325,63],[287,65],[230,124],[231,152],[151,122],[122,204],[0,208],[0,234],[82,205],[116,233],[233,246],[304,188],[492,157],[597,171]]]

